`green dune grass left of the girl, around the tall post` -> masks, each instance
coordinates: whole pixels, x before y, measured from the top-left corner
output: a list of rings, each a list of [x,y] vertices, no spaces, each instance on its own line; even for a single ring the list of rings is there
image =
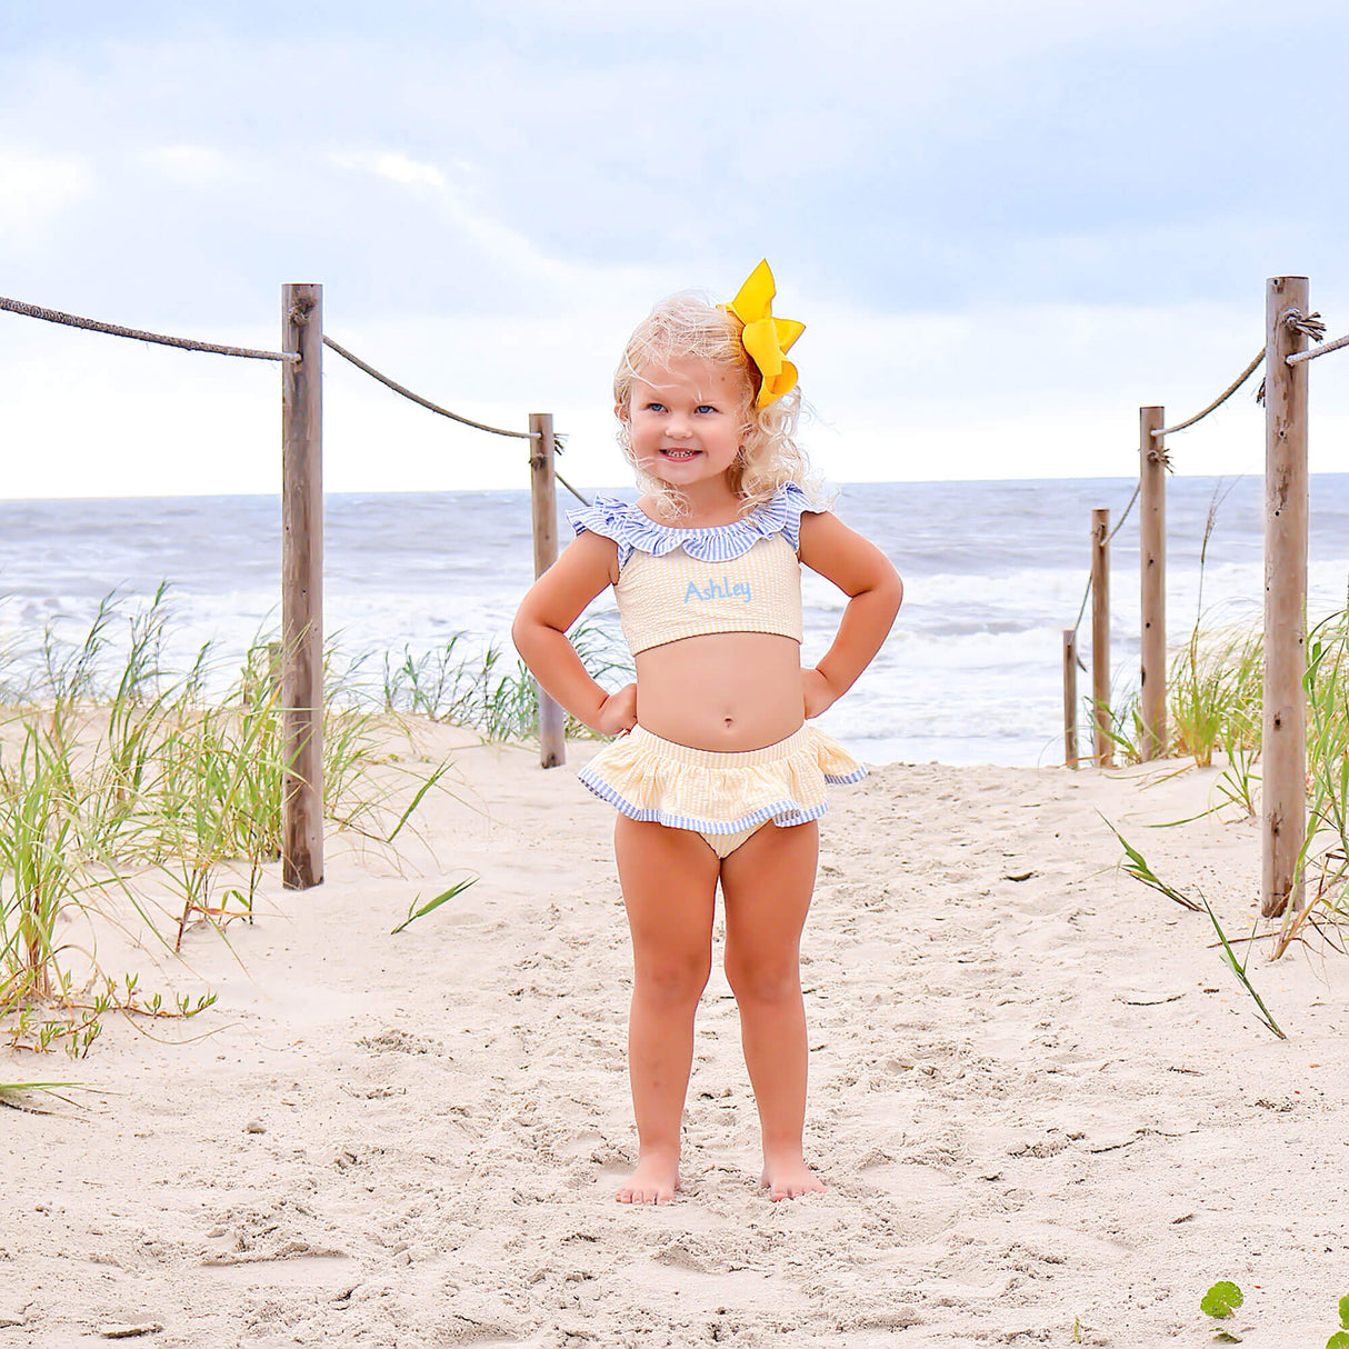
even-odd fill
[[[209,994],[150,993],[105,971],[92,934],[111,924],[177,951],[194,923],[250,919],[281,855],[286,764],[268,643],[208,699],[221,660],[202,648],[186,670],[166,669],[170,623],[165,587],[142,606],[113,595],[81,639],[49,630],[35,660],[0,661],[0,1027],[15,1047],[81,1056],[111,1010],[204,1010]],[[527,733],[532,683],[494,677],[495,653],[456,662],[461,650],[405,656],[401,681],[386,662],[395,677],[383,706],[363,662],[341,668],[329,652],[324,813],[335,830],[389,846],[444,788],[448,761],[389,751],[391,733],[410,734],[403,712],[494,738]]]

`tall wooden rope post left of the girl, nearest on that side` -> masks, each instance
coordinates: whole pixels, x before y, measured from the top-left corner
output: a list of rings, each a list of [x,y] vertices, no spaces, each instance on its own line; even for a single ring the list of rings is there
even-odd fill
[[[282,885],[324,880],[324,287],[281,287]]]

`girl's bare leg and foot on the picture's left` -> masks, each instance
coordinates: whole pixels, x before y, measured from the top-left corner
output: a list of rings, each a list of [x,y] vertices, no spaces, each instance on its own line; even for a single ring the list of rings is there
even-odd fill
[[[716,854],[696,834],[618,816],[618,878],[633,932],[627,1062],[637,1170],[623,1203],[664,1203],[679,1187],[680,1124],[693,1062],[693,1013],[712,967]]]

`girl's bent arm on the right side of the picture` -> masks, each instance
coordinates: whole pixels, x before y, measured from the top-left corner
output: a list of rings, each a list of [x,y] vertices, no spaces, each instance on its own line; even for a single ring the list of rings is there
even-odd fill
[[[874,544],[836,515],[801,515],[801,561],[849,596],[834,645],[812,670],[801,670],[805,715],[838,701],[881,649],[904,599],[904,583]]]

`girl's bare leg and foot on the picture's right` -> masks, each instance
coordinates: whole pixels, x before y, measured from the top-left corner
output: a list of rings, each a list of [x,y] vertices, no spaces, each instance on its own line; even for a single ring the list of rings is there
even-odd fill
[[[801,1155],[805,1124],[805,1006],[801,929],[815,888],[819,828],[765,824],[722,863],[726,977],[764,1133],[762,1183],[773,1199],[824,1186]]]

